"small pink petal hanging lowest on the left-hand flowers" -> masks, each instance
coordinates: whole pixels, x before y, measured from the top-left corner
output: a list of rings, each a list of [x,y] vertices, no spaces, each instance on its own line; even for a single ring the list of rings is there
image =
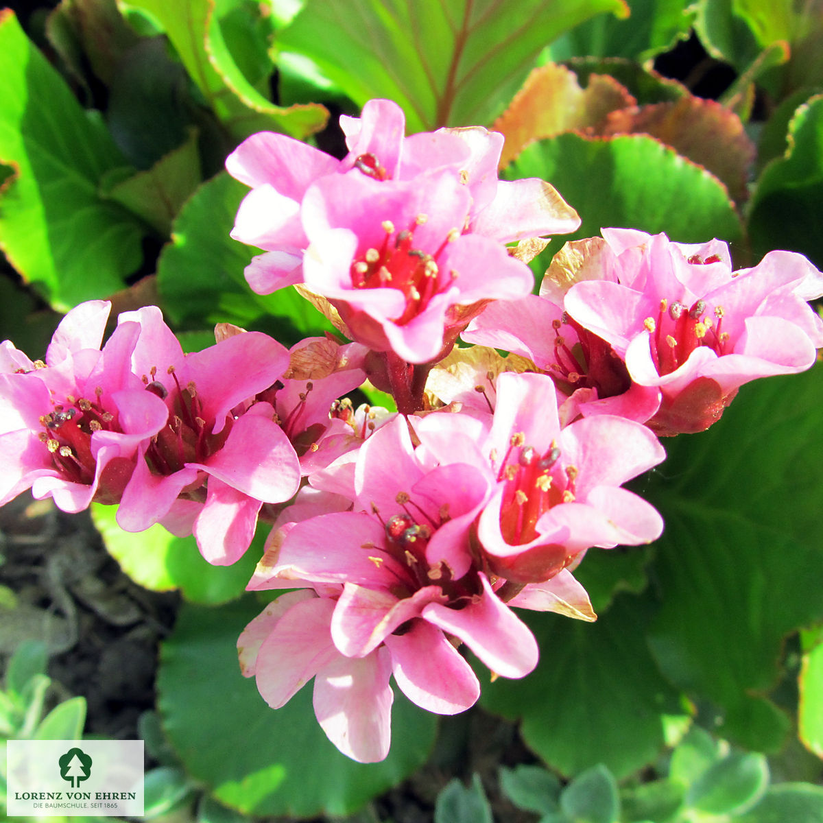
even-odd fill
[[[206,504],[194,521],[194,537],[202,556],[212,565],[231,565],[251,545],[260,500],[244,495],[216,477],[208,481]]]

